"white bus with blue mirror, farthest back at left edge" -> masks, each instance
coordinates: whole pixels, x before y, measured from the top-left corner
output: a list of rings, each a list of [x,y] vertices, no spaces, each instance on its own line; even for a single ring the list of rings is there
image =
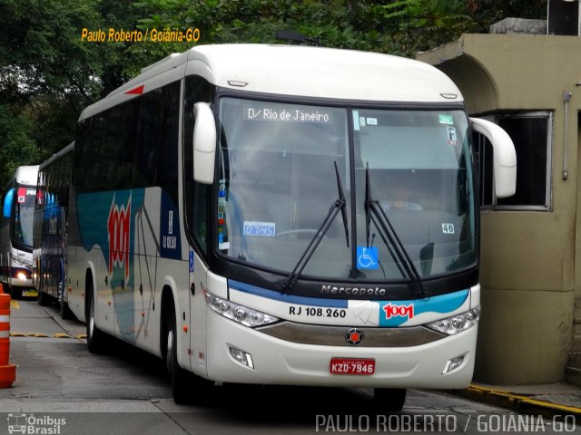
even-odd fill
[[[33,219],[38,166],[21,166],[2,195],[0,281],[17,299],[33,289]]]

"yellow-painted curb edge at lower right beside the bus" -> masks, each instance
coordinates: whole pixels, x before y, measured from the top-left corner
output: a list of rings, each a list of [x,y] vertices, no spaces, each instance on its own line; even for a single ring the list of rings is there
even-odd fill
[[[532,397],[515,394],[510,391],[498,390],[492,387],[471,384],[466,390],[456,390],[455,393],[465,399],[482,401],[489,405],[507,408],[522,413],[537,413],[549,415],[574,415],[581,417],[581,408],[568,406],[551,401],[540,401]]]

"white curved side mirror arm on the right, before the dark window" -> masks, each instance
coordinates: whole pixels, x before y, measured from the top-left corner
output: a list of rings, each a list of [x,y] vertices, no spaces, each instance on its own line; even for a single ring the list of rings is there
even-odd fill
[[[508,133],[494,122],[470,118],[472,130],[484,135],[494,151],[494,189],[497,198],[511,197],[517,191],[517,151]]]

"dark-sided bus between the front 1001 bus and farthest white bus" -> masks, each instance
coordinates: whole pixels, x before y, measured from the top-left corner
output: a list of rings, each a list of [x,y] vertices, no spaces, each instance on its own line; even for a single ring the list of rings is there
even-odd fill
[[[66,227],[74,142],[38,167],[34,205],[33,279],[38,304],[55,300],[66,318]]]

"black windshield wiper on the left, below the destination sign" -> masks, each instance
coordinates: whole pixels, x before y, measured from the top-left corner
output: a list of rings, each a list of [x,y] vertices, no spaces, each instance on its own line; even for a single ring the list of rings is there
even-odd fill
[[[283,292],[290,292],[292,287],[296,284],[297,280],[299,279],[300,274],[304,270],[307,263],[309,263],[310,257],[314,254],[315,249],[320,244],[320,241],[325,237],[327,231],[330,228],[330,225],[333,223],[333,220],[341,210],[341,217],[343,218],[343,227],[345,228],[345,239],[347,240],[347,247],[349,247],[349,227],[347,225],[347,200],[345,199],[345,194],[343,193],[343,184],[341,183],[341,178],[339,175],[339,169],[337,168],[337,162],[335,161],[335,175],[337,177],[337,190],[339,192],[339,198],[336,199],[330,206],[329,212],[327,213],[327,217],[324,218],[323,222],[320,224],[319,229],[315,233],[315,235],[310,239],[309,245],[304,250],[304,252],[300,255],[299,261],[297,262],[296,266],[292,269],[292,272],[287,279],[282,284],[282,291]]]

